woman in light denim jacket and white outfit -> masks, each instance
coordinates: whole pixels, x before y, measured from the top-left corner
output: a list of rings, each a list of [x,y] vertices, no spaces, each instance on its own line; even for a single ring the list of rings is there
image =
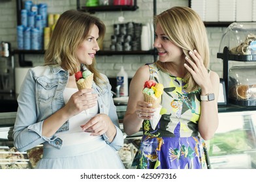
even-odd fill
[[[123,133],[111,86],[95,68],[105,26],[84,12],[61,14],[45,54],[45,65],[27,73],[18,96],[14,146],[43,144],[36,168],[124,168],[118,153]],[[74,73],[94,73],[92,88],[78,90]]]

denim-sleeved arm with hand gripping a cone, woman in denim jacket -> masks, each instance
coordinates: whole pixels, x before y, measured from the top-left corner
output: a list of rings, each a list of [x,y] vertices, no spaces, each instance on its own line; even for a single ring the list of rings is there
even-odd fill
[[[82,110],[88,109],[97,103],[97,94],[85,94],[91,90],[80,90],[73,94],[65,107],[57,110],[50,116],[40,116],[46,118],[39,121],[39,113],[37,112],[37,96],[36,96],[36,80],[33,71],[29,70],[24,79],[24,83],[20,88],[18,96],[18,110],[16,114],[16,122],[14,124],[14,146],[19,151],[31,149],[43,142],[52,143],[57,148],[61,147],[61,139],[56,138],[54,134],[57,129],[67,122],[69,118]],[[49,91],[50,92],[50,91]],[[85,101],[88,97],[94,97],[89,101]],[[49,107],[51,107],[49,105]],[[42,111],[42,110],[41,110]],[[43,111],[41,113],[44,113]],[[58,144],[54,144],[54,140],[58,140]]]

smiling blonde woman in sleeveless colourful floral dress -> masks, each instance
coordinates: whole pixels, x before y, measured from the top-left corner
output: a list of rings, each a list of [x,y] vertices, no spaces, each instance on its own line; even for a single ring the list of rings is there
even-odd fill
[[[159,60],[138,69],[129,88],[123,124],[133,135],[144,135],[133,161],[135,168],[210,168],[204,140],[218,127],[219,77],[209,70],[206,29],[198,14],[175,6],[155,16],[155,42]],[[144,82],[164,85],[161,118],[155,129],[155,112],[144,101]]]

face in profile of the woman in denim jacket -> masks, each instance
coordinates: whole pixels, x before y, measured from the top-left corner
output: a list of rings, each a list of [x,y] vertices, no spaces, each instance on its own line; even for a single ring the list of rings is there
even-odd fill
[[[78,49],[76,50],[76,56],[80,63],[86,65],[92,64],[96,51],[99,51],[97,38],[99,38],[99,28],[96,25],[93,25],[87,38],[78,46]]]

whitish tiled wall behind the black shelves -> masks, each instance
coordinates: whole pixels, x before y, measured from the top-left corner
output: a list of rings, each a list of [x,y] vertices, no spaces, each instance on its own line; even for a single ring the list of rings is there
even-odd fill
[[[75,0],[32,0],[34,3],[47,3],[49,13],[61,13],[68,9],[76,8]],[[138,10],[135,12],[96,12],[95,16],[101,18],[106,24],[106,40],[104,47],[110,45],[110,36],[113,34],[113,24],[118,23],[118,16],[123,16],[125,22],[135,21],[140,23],[148,23],[153,20],[153,0],[137,0]],[[86,3],[81,0],[81,3]],[[157,0],[157,14],[172,6],[188,6],[188,0]],[[16,0],[0,3],[0,41],[11,42],[12,47],[16,47]],[[222,60],[217,59],[219,51],[219,42],[221,35],[226,28],[208,27],[208,38],[210,42],[211,68],[222,76]],[[26,60],[32,60],[33,65],[37,66],[44,62],[43,55],[26,55]],[[131,55],[131,56],[101,56],[97,57],[97,66],[100,72],[106,73],[108,77],[116,77],[121,64],[124,64],[125,70],[129,73],[129,77],[133,77],[139,66],[146,62],[153,62],[153,56],[149,55]],[[16,64],[17,65],[17,64]],[[106,69],[107,68],[107,69]]]

